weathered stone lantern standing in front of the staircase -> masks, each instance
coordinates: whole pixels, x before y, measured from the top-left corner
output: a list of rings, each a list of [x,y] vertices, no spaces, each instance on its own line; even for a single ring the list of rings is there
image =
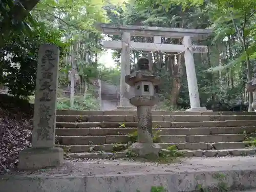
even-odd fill
[[[130,150],[139,156],[157,156],[160,146],[152,141],[152,106],[157,103],[154,96],[154,86],[160,83],[160,78],[150,71],[147,58],[140,58],[137,71],[125,76],[125,82],[134,88],[134,97],[130,103],[137,106],[138,114],[138,142]]]

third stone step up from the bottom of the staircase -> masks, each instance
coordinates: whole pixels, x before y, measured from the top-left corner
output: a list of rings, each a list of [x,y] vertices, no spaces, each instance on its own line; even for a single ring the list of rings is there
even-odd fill
[[[255,136],[255,134],[248,134]],[[223,135],[162,135],[159,136],[159,143],[218,143],[218,142],[242,142],[245,140],[243,134],[223,134]],[[127,143],[132,138],[127,135],[108,135],[108,136],[56,136],[56,143],[60,145],[88,145],[88,144],[111,144]]]

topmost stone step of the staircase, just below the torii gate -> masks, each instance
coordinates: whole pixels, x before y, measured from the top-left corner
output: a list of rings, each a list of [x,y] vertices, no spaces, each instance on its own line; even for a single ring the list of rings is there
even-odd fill
[[[57,110],[57,115],[132,115],[136,116],[137,111],[77,111]],[[255,112],[193,112],[193,111],[152,111],[152,115],[256,115]]]

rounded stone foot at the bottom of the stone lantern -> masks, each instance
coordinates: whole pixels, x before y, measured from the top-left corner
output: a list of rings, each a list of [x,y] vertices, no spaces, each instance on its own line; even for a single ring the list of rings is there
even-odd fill
[[[139,157],[157,159],[159,157],[161,147],[157,143],[134,143],[129,147],[129,150]]]

